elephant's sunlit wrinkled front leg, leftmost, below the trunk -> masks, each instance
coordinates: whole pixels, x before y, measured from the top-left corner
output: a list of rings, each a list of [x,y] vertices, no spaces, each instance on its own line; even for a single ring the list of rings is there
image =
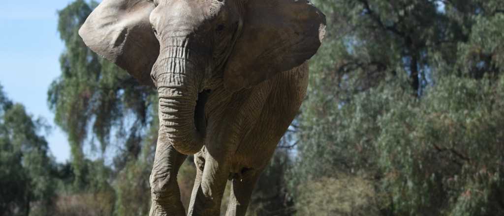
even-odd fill
[[[152,201],[149,215],[182,216],[185,215],[185,209],[180,201],[177,173],[187,156],[178,153],[171,144],[162,141],[161,133],[159,136],[150,176]]]

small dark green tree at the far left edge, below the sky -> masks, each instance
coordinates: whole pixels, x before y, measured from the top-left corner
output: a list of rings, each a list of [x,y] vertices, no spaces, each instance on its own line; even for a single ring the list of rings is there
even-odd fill
[[[23,105],[0,85],[0,214],[47,215],[55,196],[55,161],[41,130]]]

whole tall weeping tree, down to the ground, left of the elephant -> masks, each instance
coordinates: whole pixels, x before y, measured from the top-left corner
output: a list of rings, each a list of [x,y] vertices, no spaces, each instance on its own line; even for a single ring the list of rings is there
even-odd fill
[[[60,56],[61,75],[47,94],[54,121],[67,133],[71,146],[73,186],[66,197],[93,201],[87,197],[103,196],[107,201],[102,202],[111,207],[100,208],[110,214],[145,215],[150,191],[145,173],[152,167],[158,127],[155,91],[84,44],[78,30],[96,6],[94,1],[76,0],[58,11],[57,29],[66,48]],[[137,178],[140,173],[144,177]]]

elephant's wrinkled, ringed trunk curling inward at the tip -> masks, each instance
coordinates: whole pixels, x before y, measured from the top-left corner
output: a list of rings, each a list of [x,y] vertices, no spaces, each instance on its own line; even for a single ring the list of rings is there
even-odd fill
[[[176,40],[174,40],[176,41]],[[188,49],[186,39],[161,46],[153,67],[159,94],[159,139],[182,154],[195,154],[204,144],[202,98],[198,101],[202,64]]]

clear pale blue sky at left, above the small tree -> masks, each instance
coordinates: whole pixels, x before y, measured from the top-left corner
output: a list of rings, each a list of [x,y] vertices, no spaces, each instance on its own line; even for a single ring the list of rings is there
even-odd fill
[[[58,162],[70,157],[66,135],[54,126],[47,106],[47,88],[60,74],[64,45],[56,31],[56,10],[73,0],[4,1],[0,7],[0,83],[7,96],[26,106],[52,127],[46,136]]]

